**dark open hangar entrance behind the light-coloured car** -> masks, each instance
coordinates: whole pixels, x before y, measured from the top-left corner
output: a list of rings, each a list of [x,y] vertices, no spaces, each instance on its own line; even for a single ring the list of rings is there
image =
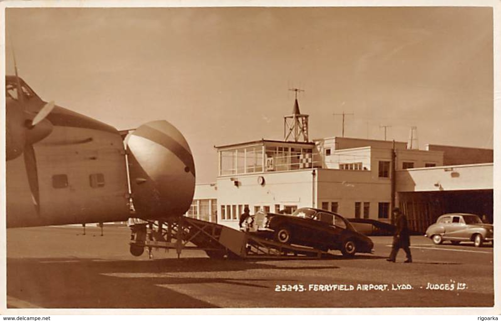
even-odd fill
[[[418,232],[424,233],[445,213],[473,213],[488,223],[493,221],[492,189],[399,192],[398,200],[409,228]]]

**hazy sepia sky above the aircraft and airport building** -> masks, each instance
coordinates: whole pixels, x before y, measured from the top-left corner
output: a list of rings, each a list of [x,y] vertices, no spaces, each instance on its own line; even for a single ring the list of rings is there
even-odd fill
[[[310,138],[493,147],[489,7],[7,8],[6,73],[44,100],[117,129],[166,119],[197,182],[216,145],[284,138],[294,106]]]

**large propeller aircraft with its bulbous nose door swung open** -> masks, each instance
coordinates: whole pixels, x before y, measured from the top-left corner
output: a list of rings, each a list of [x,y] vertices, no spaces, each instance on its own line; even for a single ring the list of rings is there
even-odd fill
[[[6,76],[7,227],[182,216],[195,167],[182,133],[166,120],[115,127],[46,102]]]

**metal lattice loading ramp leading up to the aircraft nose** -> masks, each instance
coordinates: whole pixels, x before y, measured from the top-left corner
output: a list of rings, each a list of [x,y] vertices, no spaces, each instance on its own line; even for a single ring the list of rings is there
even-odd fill
[[[252,233],[190,217],[137,222],[131,227],[130,252],[153,248],[204,250],[212,258],[321,258],[320,249],[284,244]]]

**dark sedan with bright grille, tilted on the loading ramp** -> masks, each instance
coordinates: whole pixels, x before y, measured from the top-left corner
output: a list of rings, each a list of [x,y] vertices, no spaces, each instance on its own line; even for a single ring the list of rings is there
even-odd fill
[[[249,231],[281,243],[340,250],[345,256],[371,253],[374,243],[343,216],[324,209],[303,207],[292,214],[257,213]]]

